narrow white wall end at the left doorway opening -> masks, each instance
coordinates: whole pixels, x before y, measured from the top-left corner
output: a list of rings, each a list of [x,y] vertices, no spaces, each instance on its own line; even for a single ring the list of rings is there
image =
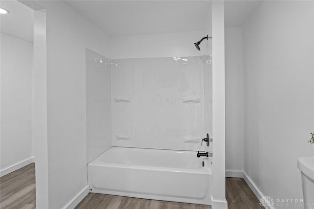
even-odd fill
[[[34,11],[34,113],[36,208],[48,209],[48,123],[47,123],[46,9]]]

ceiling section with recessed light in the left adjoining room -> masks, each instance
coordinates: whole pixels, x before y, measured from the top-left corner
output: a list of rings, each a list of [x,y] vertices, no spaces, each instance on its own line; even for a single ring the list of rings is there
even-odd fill
[[[1,15],[0,32],[32,43],[34,11],[16,0],[1,0],[0,6],[9,11]]]

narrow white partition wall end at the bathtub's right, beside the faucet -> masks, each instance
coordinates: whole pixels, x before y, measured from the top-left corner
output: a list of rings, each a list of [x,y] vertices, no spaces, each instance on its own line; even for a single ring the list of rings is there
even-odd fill
[[[212,209],[227,209],[225,195],[224,1],[212,2]]]

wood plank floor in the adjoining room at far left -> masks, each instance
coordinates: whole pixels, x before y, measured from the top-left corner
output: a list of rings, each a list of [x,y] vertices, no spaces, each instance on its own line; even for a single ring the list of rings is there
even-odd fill
[[[1,209],[35,209],[35,163],[0,178]]]

